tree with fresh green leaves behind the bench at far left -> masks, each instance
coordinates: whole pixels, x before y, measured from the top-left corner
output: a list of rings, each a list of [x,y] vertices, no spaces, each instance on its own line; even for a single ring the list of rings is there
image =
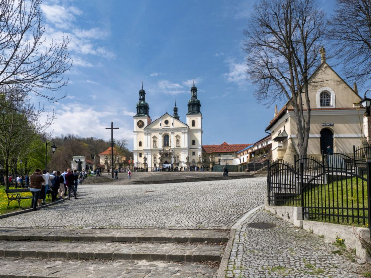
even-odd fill
[[[23,153],[30,152],[34,137],[53,122],[54,114],[48,114],[42,122],[42,112],[29,102],[22,90],[13,88],[0,94],[0,159],[4,161],[6,176],[10,161],[16,162]],[[6,187],[9,187],[8,180]]]

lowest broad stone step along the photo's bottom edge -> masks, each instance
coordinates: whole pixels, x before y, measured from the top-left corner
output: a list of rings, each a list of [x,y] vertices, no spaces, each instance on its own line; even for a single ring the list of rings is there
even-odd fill
[[[217,265],[148,261],[0,259],[1,278],[215,278]]]

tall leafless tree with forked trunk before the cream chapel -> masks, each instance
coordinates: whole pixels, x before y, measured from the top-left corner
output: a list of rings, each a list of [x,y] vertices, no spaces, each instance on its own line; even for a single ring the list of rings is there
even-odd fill
[[[258,85],[255,97],[267,105],[282,100],[292,105],[300,155],[308,148],[309,77],[319,65],[324,31],[325,13],[314,0],[262,0],[244,30],[248,79]]]

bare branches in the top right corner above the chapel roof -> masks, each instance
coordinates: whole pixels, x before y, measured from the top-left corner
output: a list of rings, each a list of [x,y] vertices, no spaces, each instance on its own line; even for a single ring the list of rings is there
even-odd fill
[[[336,0],[327,37],[353,81],[371,76],[371,0]]]

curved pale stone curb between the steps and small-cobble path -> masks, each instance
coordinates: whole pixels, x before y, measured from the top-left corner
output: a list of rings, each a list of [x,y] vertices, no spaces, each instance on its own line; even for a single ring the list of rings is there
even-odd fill
[[[255,211],[258,209],[264,207],[264,204],[261,204],[251,210],[249,210],[247,213],[245,213],[240,219],[237,220],[237,222],[232,226],[231,228],[231,233],[230,233],[230,238],[228,239],[228,243],[226,246],[226,249],[224,250],[224,254],[222,257],[222,260],[220,261],[220,266],[217,272],[217,278],[225,278],[227,275],[227,268],[228,268],[228,261],[231,256],[231,251],[232,251],[232,246],[233,246],[233,241],[234,241],[234,236],[235,233],[238,229],[238,227]]]

